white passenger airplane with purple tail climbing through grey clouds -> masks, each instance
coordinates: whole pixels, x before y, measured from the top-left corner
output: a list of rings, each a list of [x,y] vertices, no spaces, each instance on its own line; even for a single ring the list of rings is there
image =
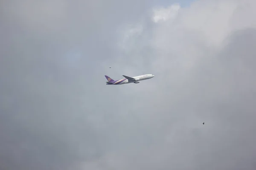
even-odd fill
[[[106,79],[108,80],[107,85],[123,85],[123,84],[127,84],[127,83],[140,83],[140,80],[145,80],[145,79],[151,79],[154,77],[153,74],[145,74],[145,75],[141,75],[141,76],[135,76],[135,77],[128,77],[125,75],[122,75],[123,77],[125,77],[125,79],[119,79],[119,80],[113,80],[110,77],[108,77],[107,75],[105,75]]]

